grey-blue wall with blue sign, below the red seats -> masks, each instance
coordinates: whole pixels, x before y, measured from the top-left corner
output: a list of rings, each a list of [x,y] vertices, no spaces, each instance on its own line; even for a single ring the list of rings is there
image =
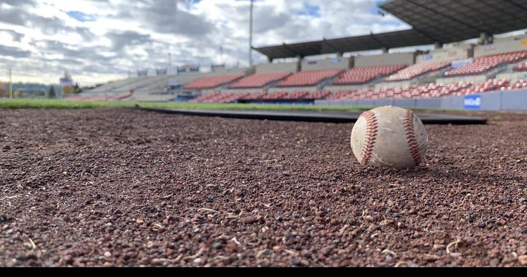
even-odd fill
[[[395,106],[450,110],[527,111],[527,90],[493,91],[427,99],[315,100],[322,106]]]

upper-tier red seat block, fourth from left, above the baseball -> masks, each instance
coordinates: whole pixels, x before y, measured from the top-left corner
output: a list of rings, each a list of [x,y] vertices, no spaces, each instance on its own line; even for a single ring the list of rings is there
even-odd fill
[[[359,66],[341,74],[334,84],[364,84],[375,78],[397,72],[405,67],[406,65],[402,64]]]

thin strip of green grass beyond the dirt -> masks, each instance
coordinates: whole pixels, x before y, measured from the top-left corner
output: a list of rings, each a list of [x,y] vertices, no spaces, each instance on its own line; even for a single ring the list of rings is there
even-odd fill
[[[207,110],[298,110],[350,111],[369,110],[368,106],[311,106],[238,103],[182,103],[182,102],[120,102],[120,101],[65,101],[60,99],[0,99],[0,109],[89,109],[106,107],[178,108]],[[415,108],[413,110],[433,110]],[[437,110],[440,111],[440,110]]]

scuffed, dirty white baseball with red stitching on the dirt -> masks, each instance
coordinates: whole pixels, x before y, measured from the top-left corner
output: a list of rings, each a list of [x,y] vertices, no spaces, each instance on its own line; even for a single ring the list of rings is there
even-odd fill
[[[414,168],[423,160],[428,134],[409,109],[392,106],[364,112],[353,126],[351,146],[361,165]]]

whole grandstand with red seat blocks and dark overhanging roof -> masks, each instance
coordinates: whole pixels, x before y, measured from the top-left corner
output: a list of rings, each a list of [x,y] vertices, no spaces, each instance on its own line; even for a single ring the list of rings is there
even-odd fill
[[[96,93],[104,93],[112,100],[171,100],[189,95],[194,102],[313,102],[431,99],[524,89],[527,35],[495,34],[527,28],[523,20],[527,10],[521,8],[525,4],[527,0],[393,0],[379,8],[411,25],[411,29],[255,47],[267,56],[268,63],[250,68],[215,67],[211,72],[190,75],[130,78],[102,85],[84,95],[89,97],[91,93],[96,97]],[[442,47],[472,39],[475,42]],[[435,45],[435,49],[389,51],[427,44]],[[355,53],[375,49],[382,50],[382,54]],[[316,58],[324,54],[334,56]],[[288,58],[296,61],[276,61]],[[168,86],[173,80],[178,80],[181,87]],[[130,94],[132,90],[134,93]]]

